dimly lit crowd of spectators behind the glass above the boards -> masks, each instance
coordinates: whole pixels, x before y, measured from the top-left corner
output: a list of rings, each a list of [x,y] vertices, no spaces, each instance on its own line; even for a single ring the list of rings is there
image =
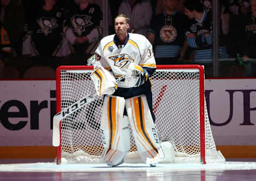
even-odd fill
[[[103,37],[103,1],[1,0],[0,78],[33,78],[45,67],[54,72],[60,65],[86,65]],[[212,0],[107,4],[109,34],[115,16],[125,14],[131,19],[129,32],[153,44],[157,65],[202,64],[206,76],[213,76]],[[218,4],[220,76],[256,76],[256,0]],[[28,75],[31,67],[37,67],[34,75]]]

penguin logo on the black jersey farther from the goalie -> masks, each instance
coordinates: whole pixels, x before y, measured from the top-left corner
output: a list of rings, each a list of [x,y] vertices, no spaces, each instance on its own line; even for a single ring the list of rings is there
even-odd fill
[[[36,20],[41,30],[37,30],[37,33],[44,33],[47,36],[49,33],[52,33],[52,29],[59,27],[57,20],[54,18],[42,17]]]

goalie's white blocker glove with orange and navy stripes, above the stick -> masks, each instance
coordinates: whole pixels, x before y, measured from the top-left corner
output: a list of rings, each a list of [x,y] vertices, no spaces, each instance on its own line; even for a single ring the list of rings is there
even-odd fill
[[[117,89],[116,79],[111,72],[100,66],[91,75],[95,90],[99,96],[111,95]]]

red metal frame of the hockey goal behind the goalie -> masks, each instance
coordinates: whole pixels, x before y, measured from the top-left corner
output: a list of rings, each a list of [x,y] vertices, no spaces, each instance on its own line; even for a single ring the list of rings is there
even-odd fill
[[[199,71],[199,111],[200,111],[200,157],[201,163],[205,161],[205,104],[204,104],[204,67],[202,65],[157,65],[156,68],[162,70],[168,69],[187,69]],[[61,70],[93,70],[93,66],[87,65],[63,65],[56,70],[56,112],[61,111]],[[61,164],[61,122],[60,122],[60,145],[57,147],[57,165]]]

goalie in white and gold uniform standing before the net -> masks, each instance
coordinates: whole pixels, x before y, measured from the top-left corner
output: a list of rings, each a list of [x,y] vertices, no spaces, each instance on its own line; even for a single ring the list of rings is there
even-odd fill
[[[123,163],[130,150],[129,124],[141,160],[155,166],[164,158],[154,125],[151,83],[156,70],[153,47],[146,37],[127,33],[129,18],[115,18],[115,35],[103,38],[95,51],[92,79],[104,94],[101,159],[109,166]],[[124,77],[117,81],[118,77]]]

